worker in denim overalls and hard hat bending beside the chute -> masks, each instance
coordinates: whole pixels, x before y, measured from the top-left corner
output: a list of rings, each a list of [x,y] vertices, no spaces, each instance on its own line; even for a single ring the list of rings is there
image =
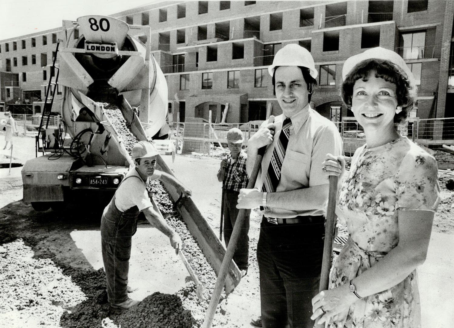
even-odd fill
[[[132,150],[135,167],[129,170],[114,197],[106,206],[101,218],[101,238],[104,271],[107,279],[107,297],[112,308],[128,310],[138,303],[128,297],[133,290],[128,286],[129,257],[131,237],[137,230],[140,212],[164,235],[178,254],[182,241],[160,214],[148,194],[149,181],[159,179],[191,196],[191,191],[175,177],[156,170],[158,151],[149,141],[136,143]]]

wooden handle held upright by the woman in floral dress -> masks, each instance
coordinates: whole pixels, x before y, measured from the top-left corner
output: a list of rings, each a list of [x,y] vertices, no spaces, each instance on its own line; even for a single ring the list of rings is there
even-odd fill
[[[330,176],[330,190],[328,194],[328,208],[326,209],[325,244],[321,262],[320,288],[327,290],[330,283],[331,254],[333,252],[334,225],[336,221],[337,176]],[[315,320],[317,322],[318,318]],[[325,323],[315,324],[316,328],[324,328]]]

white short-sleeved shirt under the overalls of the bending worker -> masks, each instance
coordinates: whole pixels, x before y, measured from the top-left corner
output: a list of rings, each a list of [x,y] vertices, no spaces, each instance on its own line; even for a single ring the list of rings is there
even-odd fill
[[[126,174],[125,179],[131,177],[125,182],[122,182],[115,193],[115,206],[121,212],[126,212],[129,208],[137,206],[139,211],[143,211],[145,208],[153,207],[153,204],[148,196],[148,190],[146,186],[148,181],[143,181],[135,167]],[[147,180],[155,180],[161,177],[161,172],[154,170],[151,177]]]

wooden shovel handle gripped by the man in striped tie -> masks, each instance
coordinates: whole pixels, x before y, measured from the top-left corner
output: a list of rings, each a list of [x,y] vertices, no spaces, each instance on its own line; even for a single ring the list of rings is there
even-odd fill
[[[268,123],[274,122],[274,116],[270,116]],[[249,182],[247,183],[247,189],[252,189],[255,186],[257,181],[258,172],[262,166],[262,158],[265,153],[266,146],[260,148],[257,152],[256,161],[252,169],[252,174],[249,177]],[[238,212],[237,220],[235,221],[235,226],[233,227],[232,236],[227,246],[226,254],[222,260],[221,268],[219,269],[219,275],[217,276],[216,284],[214,285],[213,294],[210,299],[210,304],[205,313],[205,319],[203,320],[202,328],[211,328],[214,313],[216,313],[217,304],[219,303],[219,298],[221,297],[222,288],[224,288],[224,283],[227,278],[228,267],[230,261],[232,261],[233,254],[237,247],[238,238],[240,237],[241,228],[243,227],[244,217],[246,216],[246,209],[242,208]]]

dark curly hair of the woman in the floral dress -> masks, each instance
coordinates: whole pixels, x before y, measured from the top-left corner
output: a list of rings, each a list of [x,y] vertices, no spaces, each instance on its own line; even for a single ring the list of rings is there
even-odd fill
[[[351,108],[353,86],[357,80],[366,81],[370,72],[375,72],[375,77],[381,77],[385,81],[396,85],[397,104],[402,106],[402,111],[394,116],[394,122],[405,121],[408,113],[413,108],[416,96],[416,86],[410,85],[410,79],[399,66],[390,61],[381,59],[367,59],[356,64],[342,83],[341,97],[345,106]]]

